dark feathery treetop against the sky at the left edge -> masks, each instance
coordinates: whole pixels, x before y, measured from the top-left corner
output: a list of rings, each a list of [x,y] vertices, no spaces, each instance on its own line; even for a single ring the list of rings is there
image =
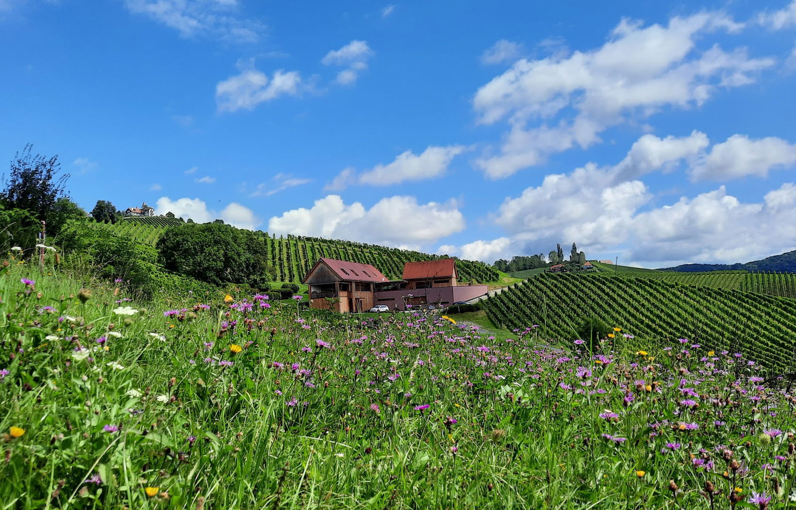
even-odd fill
[[[26,209],[39,220],[47,220],[57,200],[67,197],[64,184],[69,174],[59,175],[57,156],[33,156],[32,150],[33,145],[28,144],[14,156],[9,177],[3,178],[6,187],[0,192],[0,202],[6,208]]]

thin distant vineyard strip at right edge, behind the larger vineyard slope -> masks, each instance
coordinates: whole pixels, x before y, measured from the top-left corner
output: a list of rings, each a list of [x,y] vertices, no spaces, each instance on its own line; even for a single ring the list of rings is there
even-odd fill
[[[613,274],[610,270],[590,276]],[[633,278],[657,278],[666,282],[713,287],[724,290],[743,290],[757,294],[768,294],[782,298],[796,298],[796,274],[793,273],[749,273],[747,271],[706,271],[701,273],[679,273],[676,271],[622,272],[616,276]]]

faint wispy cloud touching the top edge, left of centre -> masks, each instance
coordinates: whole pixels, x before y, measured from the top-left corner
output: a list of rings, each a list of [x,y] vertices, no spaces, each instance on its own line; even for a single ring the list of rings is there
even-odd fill
[[[182,37],[214,37],[222,41],[255,43],[266,30],[263,23],[240,16],[234,0],[124,0],[127,10],[177,30]]]

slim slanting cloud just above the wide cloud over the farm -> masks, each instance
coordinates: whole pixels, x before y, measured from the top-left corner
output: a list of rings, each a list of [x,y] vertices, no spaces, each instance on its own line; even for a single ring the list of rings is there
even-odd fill
[[[453,158],[465,152],[465,146],[428,146],[421,154],[407,150],[386,165],[376,165],[358,176],[353,168],[343,169],[326,185],[329,191],[345,189],[346,186],[362,185],[388,186],[406,181],[422,181],[442,176]]]

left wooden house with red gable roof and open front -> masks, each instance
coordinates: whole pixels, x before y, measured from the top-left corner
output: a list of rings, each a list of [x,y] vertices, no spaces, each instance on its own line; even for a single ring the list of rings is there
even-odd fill
[[[318,310],[362,312],[374,305],[375,285],[388,282],[370,264],[321,258],[306,274],[310,306]]]

